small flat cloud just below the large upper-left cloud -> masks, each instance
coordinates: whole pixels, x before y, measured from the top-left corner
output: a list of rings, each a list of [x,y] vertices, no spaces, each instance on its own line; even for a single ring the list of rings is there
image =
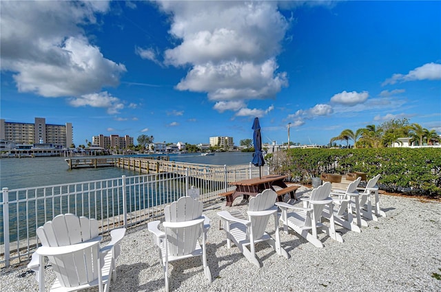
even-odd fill
[[[121,109],[124,109],[124,104],[115,98],[114,96],[103,91],[100,93],[91,93],[80,96],[79,98],[71,98],[69,104],[75,107],[79,106],[92,106],[107,109],[107,113],[115,114],[119,113]]]

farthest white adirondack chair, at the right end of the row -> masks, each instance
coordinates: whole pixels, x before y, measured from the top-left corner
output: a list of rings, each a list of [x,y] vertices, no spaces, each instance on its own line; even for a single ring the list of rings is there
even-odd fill
[[[378,221],[377,216],[386,216],[384,211],[380,210],[380,201],[378,198],[377,182],[378,182],[378,179],[380,179],[380,176],[381,175],[376,175],[372,179],[369,179],[365,188],[357,188],[357,190],[360,192],[360,213],[361,213],[361,216],[363,216],[369,220],[373,220],[373,221]],[[375,214],[372,214],[372,205],[371,205],[371,195],[372,194],[375,199],[375,208],[374,208]]]

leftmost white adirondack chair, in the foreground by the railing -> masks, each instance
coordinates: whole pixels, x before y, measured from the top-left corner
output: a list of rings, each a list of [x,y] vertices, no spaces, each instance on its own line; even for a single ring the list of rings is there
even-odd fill
[[[109,291],[112,274],[116,279],[115,260],[124,234],[125,228],[112,230],[112,240],[100,249],[102,237],[95,219],[61,214],[46,222],[37,229],[42,246],[34,252],[28,265],[37,272],[39,291],[45,291],[45,256],[57,276],[50,291],[76,291],[94,286],[98,286],[100,292]]]

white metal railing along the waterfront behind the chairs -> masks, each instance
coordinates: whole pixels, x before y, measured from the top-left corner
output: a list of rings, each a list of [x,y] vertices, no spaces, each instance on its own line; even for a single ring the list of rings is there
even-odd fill
[[[262,174],[269,174],[263,168]],[[232,181],[258,177],[252,164],[212,166],[152,175],[117,177],[0,192],[0,266],[10,260],[29,259],[39,246],[36,230],[58,214],[96,218],[101,234],[130,227],[161,216],[165,205],[185,196],[190,188],[200,191],[200,200],[212,201],[231,190]]]

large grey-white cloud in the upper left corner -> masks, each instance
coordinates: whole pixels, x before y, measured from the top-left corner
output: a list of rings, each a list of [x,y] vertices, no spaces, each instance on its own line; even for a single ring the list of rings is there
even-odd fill
[[[19,91],[44,97],[118,85],[125,66],[105,58],[81,29],[108,8],[107,1],[2,1],[1,69],[14,72]]]

